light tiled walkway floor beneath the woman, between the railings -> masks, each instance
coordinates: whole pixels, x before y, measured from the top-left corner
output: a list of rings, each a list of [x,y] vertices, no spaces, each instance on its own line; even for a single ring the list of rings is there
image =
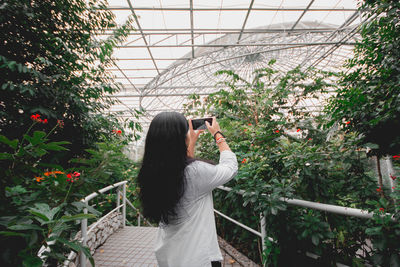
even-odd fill
[[[153,253],[156,234],[156,227],[126,226],[119,229],[96,250],[96,267],[156,267],[157,261]],[[258,266],[224,240],[220,239],[219,242],[224,257],[222,266]]]

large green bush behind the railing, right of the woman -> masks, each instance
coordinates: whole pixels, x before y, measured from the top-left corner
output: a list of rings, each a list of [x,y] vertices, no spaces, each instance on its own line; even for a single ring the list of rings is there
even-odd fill
[[[336,75],[300,68],[278,73],[273,64],[257,70],[251,81],[220,71],[217,75],[226,75],[224,85],[229,89],[205,99],[191,96],[186,106],[188,114],[217,116],[240,162],[238,175],[228,184],[234,190],[214,194],[216,208],[253,229],[259,225],[257,215],[265,214],[267,235],[275,242],[267,242],[266,251],[256,253],[260,244],[250,243],[250,233],[220,220],[218,231],[253,260],[261,262],[264,254],[267,265],[307,265],[307,252],[317,255],[319,264],[359,264],[358,250],[367,254],[363,262],[371,262],[376,251],[366,249],[370,237],[365,231],[373,222],[289,207],[281,201],[299,198],[374,209],[367,201],[378,201],[380,194],[365,152],[355,145],[360,136],[344,127],[326,127],[326,114],[304,107],[308,99],[332,91],[335,85],[329,80]],[[200,137],[198,156],[215,160],[218,153],[210,142],[211,136]],[[235,193],[238,190],[245,191],[243,198]],[[245,248],[243,240],[248,240]]]

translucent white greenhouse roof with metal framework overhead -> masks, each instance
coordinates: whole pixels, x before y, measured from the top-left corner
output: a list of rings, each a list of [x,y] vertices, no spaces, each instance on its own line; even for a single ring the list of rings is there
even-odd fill
[[[109,9],[121,24],[136,16],[109,69],[123,85],[112,111],[143,107],[145,128],[161,111],[182,111],[188,95],[217,91],[218,70],[249,78],[270,59],[280,71],[337,70],[363,23],[353,0],[109,0]]]

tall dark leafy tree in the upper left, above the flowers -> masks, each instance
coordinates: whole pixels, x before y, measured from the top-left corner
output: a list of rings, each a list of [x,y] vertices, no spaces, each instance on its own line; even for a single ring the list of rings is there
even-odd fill
[[[49,163],[66,166],[103,136],[111,138],[120,125],[107,112],[120,85],[106,68],[114,64],[114,48],[133,29],[133,17],[117,25],[107,5],[105,0],[5,0],[0,6],[0,133],[21,136],[29,124],[21,114],[62,118],[64,131],[54,135],[71,144],[68,151],[49,156]],[[112,34],[96,38],[106,30]],[[51,128],[41,125],[43,131]],[[2,182],[4,188],[10,181]]]

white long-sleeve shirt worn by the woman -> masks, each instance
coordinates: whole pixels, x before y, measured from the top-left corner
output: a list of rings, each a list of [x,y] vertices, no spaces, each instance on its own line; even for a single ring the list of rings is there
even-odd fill
[[[236,155],[222,151],[219,164],[194,161],[185,169],[185,192],[177,216],[160,223],[155,254],[160,267],[209,267],[221,261],[212,190],[237,173]]]

